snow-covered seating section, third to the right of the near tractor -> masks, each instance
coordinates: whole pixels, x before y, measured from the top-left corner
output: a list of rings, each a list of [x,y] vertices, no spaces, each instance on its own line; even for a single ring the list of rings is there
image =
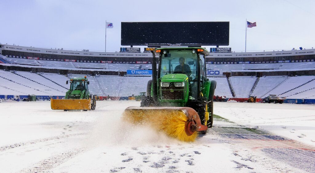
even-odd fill
[[[287,80],[286,76],[266,76],[261,77],[259,82],[257,83],[255,90],[252,95],[257,96],[257,98],[264,98],[266,94],[270,92],[272,89],[279,86],[282,82]]]

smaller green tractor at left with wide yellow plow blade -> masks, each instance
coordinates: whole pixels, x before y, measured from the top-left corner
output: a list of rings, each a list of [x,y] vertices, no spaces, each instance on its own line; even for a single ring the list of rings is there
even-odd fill
[[[70,89],[64,99],[50,99],[51,109],[54,110],[95,110],[97,95],[89,92],[89,81],[84,77],[73,77]],[[68,84],[69,81],[66,81]]]

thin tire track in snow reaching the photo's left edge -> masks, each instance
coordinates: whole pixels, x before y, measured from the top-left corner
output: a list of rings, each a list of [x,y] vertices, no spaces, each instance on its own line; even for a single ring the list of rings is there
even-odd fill
[[[61,135],[61,136],[55,136],[55,137],[48,137],[48,138],[43,138],[43,139],[37,139],[37,140],[32,140],[32,141],[27,141],[27,142],[20,142],[20,143],[14,143],[11,145],[5,145],[0,147],[0,152],[6,151],[9,149],[17,148],[17,147],[22,147],[26,145],[31,145],[31,144],[36,144],[38,142],[45,142],[45,141],[50,141],[50,140],[58,140],[58,139],[63,139],[66,137],[73,137],[73,136],[78,136],[78,135],[83,135],[85,133],[75,133],[75,134],[70,134],[70,135]]]

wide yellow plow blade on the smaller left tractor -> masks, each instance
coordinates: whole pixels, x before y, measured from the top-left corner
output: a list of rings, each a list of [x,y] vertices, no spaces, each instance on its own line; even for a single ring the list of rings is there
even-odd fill
[[[91,110],[91,98],[51,99],[50,106],[53,110]]]

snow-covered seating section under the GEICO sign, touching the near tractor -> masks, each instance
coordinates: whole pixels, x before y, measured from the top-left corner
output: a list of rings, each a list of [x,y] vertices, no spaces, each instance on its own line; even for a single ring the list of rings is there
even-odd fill
[[[215,95],[218,96],[226,96],[227,98],[232,97],[232,93],[227,83],[226,77],[207,77],[209,80],[214,80],[217,82],[217,86],[215,89]]]

